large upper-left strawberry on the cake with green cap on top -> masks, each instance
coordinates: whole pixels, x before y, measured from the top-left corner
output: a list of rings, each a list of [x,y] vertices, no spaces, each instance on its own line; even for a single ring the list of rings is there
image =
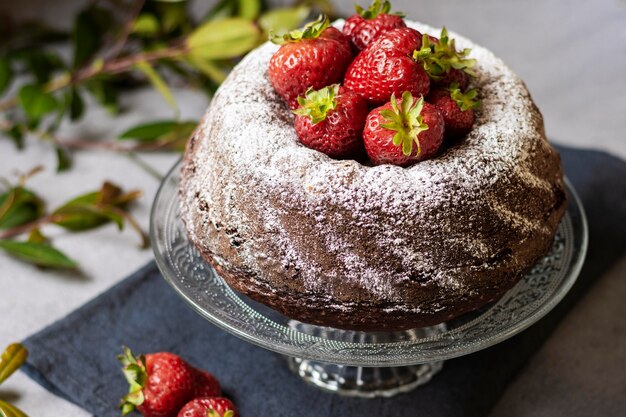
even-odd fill
[[[329,27],[323,15],[302,30],[273,36],[272,42],[282,46],[270,60],[270,83],[292,110],[298,107],[298,96],[310,87],[340,82],[352,61],[350,40]]]

